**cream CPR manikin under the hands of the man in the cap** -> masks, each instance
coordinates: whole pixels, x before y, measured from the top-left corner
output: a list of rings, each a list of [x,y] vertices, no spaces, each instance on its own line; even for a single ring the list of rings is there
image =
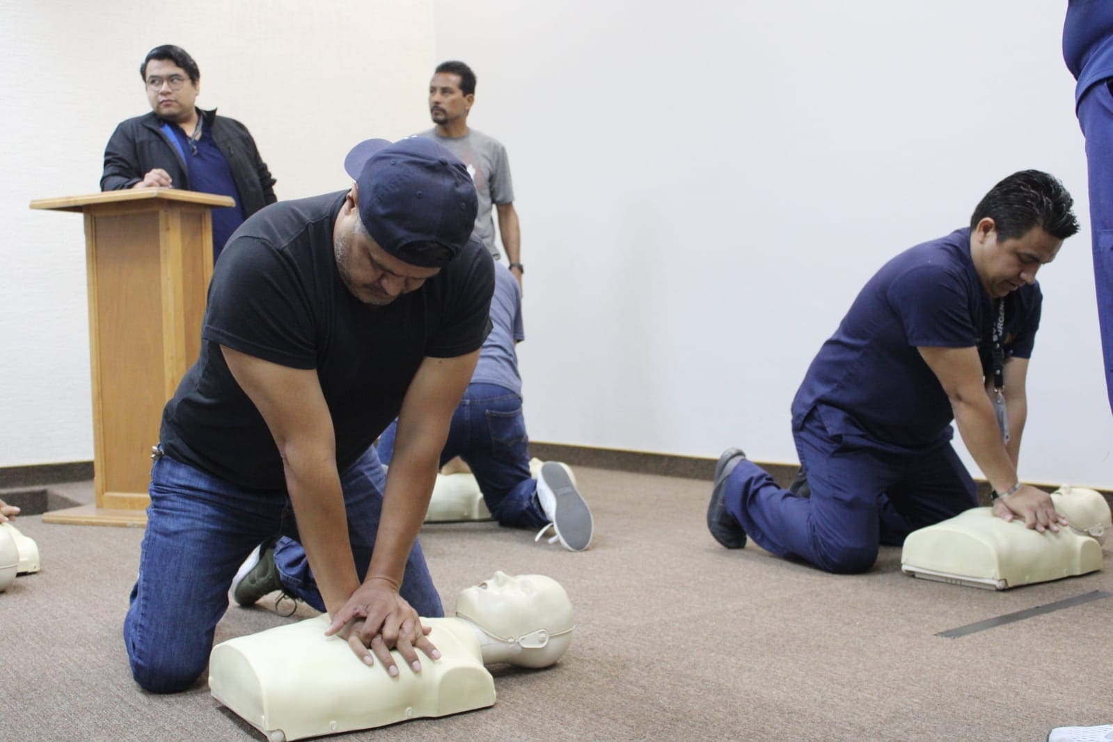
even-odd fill
[[[223,642],[209,657],[213,696],[272,742],[444,716],[494,703],[483,666],[555,663],[572,640],[572,604],[543,575],[495,572],[461,591],[456,616],[422,619],[440,660],[413,672],[395,652],[398,676],[367,666],[339,636],[325,636],[327,615]]]

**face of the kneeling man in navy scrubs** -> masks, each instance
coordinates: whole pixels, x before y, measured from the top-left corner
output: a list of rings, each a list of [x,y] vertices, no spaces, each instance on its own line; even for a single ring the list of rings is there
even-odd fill
[[[992,298],[1001,298],[1036,279],[1036,271],[1055,259],[1063,240],[1052,237],[1041,227],[1033,227],[1020,237],[998,241],[993,219],[978,222],[971,240],[982,248],[981,265],[975,263],[982,286]]]

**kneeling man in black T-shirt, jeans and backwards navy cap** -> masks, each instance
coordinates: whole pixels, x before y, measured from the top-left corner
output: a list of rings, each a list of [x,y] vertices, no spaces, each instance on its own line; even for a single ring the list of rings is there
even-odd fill
[[[237,566],[277,535],[311,578],[282,586],[367,664],[436,659],[443,614],[416,543],[452,413],[489,328],[490,257],[469,243],[464,166],[427,139],[357,145],[348,191],[284,201],[236,230],[201,352],[162,415],[139,577],[124,626],[136,681],[191,685]],[[398,417],[390,475],[371,444]],[[347,534],[347,538],[338,537]]]

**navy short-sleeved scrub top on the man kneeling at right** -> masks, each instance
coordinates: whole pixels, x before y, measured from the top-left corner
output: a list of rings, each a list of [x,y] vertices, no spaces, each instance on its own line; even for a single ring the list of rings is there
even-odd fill
[[[971,230],[896,256],[866,284],[808,368],[792,426],[817,409],[829,434],[897,453],[949,441],[954,414],[918,346],[977,346],[992,373],[995,305],[978,280]],[[1028,358],[1040,327],[1040,286],[1005,298],[1005,355]]]

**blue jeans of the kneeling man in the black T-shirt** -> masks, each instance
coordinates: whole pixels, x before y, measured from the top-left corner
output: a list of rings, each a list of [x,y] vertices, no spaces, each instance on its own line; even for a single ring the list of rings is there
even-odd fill
[[[371,564],[384,484],[374,448],[341,476],[359,580]],[[242,489],[169,456],[155,462],[139,576],[124,621],[124,642],[139,685],[174,693],[200,676],[236,571],[253,548],[279,534],[298,541],[285,492]],[[279,574],[287,592],[325,610],[304,552],[297,568],[280,565]],[[444,615],[417,543],[401,593],[421,615]]]

